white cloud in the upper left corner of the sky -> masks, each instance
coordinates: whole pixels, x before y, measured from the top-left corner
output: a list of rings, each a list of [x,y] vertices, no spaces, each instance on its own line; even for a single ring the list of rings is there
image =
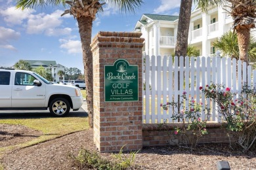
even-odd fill
[[[16,7],[9,7],[6,10],[0,10],[5,22],[9,25],[21,25],[35,10],[33,9],[16,9]]]

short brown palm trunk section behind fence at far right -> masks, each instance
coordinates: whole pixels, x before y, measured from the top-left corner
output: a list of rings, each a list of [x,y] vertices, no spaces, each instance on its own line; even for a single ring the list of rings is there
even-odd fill
[[[238,47],[239,47],[239,59],[246,62],[248,65],[248,49],[249,49],[249,39],[250,39],[250,29],[236,29],[238,34]]]

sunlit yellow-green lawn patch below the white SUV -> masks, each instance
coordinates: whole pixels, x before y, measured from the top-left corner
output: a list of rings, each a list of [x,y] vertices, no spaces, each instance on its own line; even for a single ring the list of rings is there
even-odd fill
[[[61,137],[75,131],[89,129],[87,117],[64,117],[64,118],[7,118],[1,119],[0,124],[16,124],[30,127],[42,131],[43,135],[32,141],[16,144],[14,146],[0,147],[0,154],[5,150],[10,150],[14,147],[26,147],[33,144],[49,141],[56,137]],[[1,167],[1,166],[0,166]],[[0,168],[1,169],[1,168]]]

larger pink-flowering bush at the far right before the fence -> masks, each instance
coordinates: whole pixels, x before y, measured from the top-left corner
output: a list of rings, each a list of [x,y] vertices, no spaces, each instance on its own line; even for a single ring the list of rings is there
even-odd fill
[[[244,152],[255,147],[256,143],[256,90],[247,85],[242,87],[242,94],[230,92],[220,84],[200,87],[205,97],[212,99],[219,106],[228,131]],[[234,132],[234,133],[233,133]]]

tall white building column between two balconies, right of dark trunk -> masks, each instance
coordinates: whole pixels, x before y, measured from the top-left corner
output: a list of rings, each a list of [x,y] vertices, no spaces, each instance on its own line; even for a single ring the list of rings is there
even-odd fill
[[[208,56],[211,53],[211,42],[207,40],[208,25],[211,23],[209,14],[202,14],[202,56]]]

